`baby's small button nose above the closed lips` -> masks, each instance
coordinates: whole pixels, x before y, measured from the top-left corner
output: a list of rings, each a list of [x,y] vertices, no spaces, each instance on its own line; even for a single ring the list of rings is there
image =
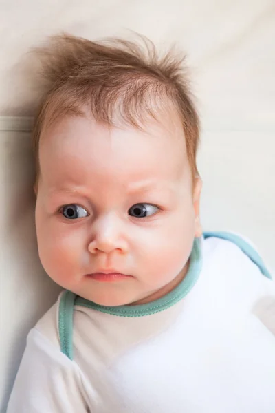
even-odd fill
[[[122,228],[122,222],[114,215],[98,218],[92,226],[89,252],[92,254],[111,253],[116,250],[126,253],[127,243]]]

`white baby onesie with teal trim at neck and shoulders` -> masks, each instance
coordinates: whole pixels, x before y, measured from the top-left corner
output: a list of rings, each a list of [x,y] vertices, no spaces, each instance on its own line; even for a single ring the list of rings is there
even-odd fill
[[[29,335],[8,413],[274,413],[275,283],[205,233],[171,293],[104,307],[61,293]]]

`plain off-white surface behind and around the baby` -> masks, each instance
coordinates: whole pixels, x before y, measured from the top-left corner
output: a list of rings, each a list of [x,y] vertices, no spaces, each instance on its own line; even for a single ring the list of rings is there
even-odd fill
[[[1,412],[27,332],[58,293],[36,251],[25,116],[39,84],[25,53],[61,30],[98,39],[132,36],[127,29],[188,54],[203,123],[204,229],[243,233],[275,269],[274,0],[0,0]]]

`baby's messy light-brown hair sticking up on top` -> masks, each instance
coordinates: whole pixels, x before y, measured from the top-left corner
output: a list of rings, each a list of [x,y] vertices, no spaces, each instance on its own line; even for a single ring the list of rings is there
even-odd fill
[[[196,153],[199,118],[188,87],[184,56],[173,49],[158,56],[153,44],[122,39],[89,41],[61,34],[36,50],[46,85],[34,120],[33,147],[39,176],[41,133],[64,116],[91,116],[115,126],[118,116],[141,127],[156,117],[159,107],[175,107],[181,120],[193,178],[198,175]]]

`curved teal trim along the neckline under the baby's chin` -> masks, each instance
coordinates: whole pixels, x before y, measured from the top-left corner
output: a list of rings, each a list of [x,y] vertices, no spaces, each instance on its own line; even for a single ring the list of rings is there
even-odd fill
[[[166,294],[164,297],[148,304],[115,307],[100,306],[93,301],[89,301],[82,297],[76,297],[75,305],[92,308],[101,311],[102,313],[118,315],[120,317],[142,317],[144,315],[159,313],[159,311],[166,310],[166,308],[173,306],[189,293],[199,278],[201,265],[201,238],[195,238],[192,253],[190,255],[190,265],[186,276],[173,291],[170,291],[170,293]]]

